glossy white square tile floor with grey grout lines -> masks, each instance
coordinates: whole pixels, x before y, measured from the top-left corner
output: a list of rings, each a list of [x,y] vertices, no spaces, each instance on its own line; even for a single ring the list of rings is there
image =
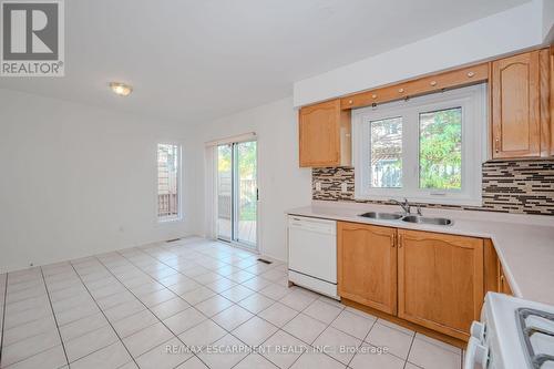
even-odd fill
[[[459,369],[462,362],[458,348],[288,288],[283,263],[267,265],[203,238],[0,275],[0,291],[1,368]]]

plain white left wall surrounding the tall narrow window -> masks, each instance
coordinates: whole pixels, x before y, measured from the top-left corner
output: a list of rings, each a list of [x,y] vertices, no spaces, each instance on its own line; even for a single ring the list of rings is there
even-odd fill
[[[194,233],[195,182],[185,221],[156,221],[156,143],[183,144],[188,180],[189,136],[172,122],[0,90],[0,271]]]

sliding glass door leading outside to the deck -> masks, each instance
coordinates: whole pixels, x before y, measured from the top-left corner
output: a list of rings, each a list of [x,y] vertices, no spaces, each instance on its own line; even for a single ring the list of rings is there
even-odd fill
[[[257,247],[257,143],[217,146],[217,237]]]

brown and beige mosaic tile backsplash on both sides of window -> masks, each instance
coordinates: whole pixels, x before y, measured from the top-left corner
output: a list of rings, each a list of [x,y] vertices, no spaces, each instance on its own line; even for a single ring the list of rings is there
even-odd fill
[[[311,194],[319,201],[353,202],[352,167],[312,168]],[[321,191],[316,191],[316,183]],[[347,192],[340,191],[347,183]],[[362,202],[362,201],[358,201]],[[371,202],[387,204],[387,202]],[[421,204],[424,207],[466,208],[517,214],[554,215],[554,161],[505,161],[483,163],[483,205]]]

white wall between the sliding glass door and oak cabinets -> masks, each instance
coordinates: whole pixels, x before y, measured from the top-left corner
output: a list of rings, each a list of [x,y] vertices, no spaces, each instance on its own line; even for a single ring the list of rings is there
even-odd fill
[[[208,124],[202,142],[256,132],[258,140],[259,247],[263,255],[287,258],[285,211],[311,202],[311,171],[298,167],[297,112],[293,98],[244,111]],[[204,175],[198,176],[204,188]],[[204,198],[204,193],[198,193]]]

